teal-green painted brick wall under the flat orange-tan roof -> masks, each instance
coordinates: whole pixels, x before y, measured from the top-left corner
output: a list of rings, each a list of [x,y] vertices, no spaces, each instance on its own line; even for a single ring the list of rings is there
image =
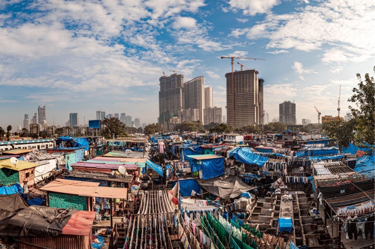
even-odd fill
[[[49,193],[49,206],[67,209],[74,207],[78,210],[87,210],[86,196],[73,196],[70,194]]]

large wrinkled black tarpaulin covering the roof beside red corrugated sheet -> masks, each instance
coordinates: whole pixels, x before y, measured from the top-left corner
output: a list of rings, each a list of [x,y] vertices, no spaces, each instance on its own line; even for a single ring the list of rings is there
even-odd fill
[[[0,221],[0,235],[51,237],[62,234],[62,229],[77,209],[67,210],[29,206],[11,218]]]

